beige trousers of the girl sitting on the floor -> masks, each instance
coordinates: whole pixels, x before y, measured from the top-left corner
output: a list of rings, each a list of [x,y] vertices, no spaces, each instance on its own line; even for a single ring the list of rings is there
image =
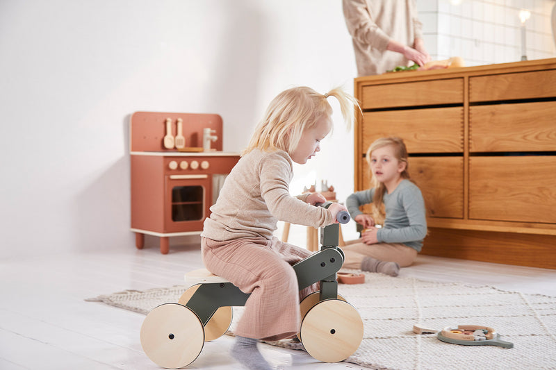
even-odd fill
[[[361,261],[365,257],[398,262],[400,267],[411,266],[417,257],[416,249],[402,243],[365,244],[361,239],[355,239],[346,242],[341,249],[345,254],[343,267],[346,269],[361,269]]]

